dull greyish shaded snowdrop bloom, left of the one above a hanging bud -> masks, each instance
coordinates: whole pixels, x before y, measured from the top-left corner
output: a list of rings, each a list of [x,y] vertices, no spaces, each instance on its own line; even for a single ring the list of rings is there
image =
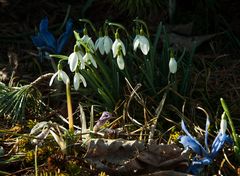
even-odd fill
[[[104,37],[99,37],[95,43],[95,49],[99,49],[100,53],[104,55],[104,53],[108,54],[111,51],[113,41],[112,39],[105,35]]]

